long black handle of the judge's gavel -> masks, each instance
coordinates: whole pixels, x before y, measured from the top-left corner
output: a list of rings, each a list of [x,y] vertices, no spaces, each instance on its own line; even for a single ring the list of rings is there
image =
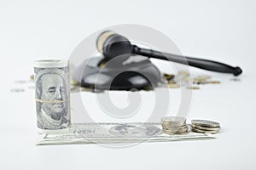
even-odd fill
[[[208,59],[196,59],[196,58],[191,58],[191,57],[183,57],[183,56],[180,56],[177,54],[161,53],[158,51],[154,51],[152,49],[138,48],[135,45],[133,46],[132,53],[147,56],[149,58],[154,58],[154,59],[170,60],[170,61],[184,64],[184,65],[195,66],[197,68],[201,68],[201,69],[204,69],[207,71],[232,73],[235,76],[240,75],[242,72],[240,67],[232,67],[230,65],[226,65],[224,63],[220,63],[217,61],[212,61],[212,60],[208,60]]]

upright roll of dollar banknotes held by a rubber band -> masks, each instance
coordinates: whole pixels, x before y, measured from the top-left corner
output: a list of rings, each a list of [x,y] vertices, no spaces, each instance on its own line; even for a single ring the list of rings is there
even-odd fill
[[[35,99],[39,133],[61,133],[70,126],[68,61],[34,62]]]

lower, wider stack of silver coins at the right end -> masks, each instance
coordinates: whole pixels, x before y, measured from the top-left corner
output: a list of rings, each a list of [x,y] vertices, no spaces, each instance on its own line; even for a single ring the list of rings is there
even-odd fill
[[[206,120],[192,120],[191,131],[195,133],[218,133],[220,126],[218,122]]]

